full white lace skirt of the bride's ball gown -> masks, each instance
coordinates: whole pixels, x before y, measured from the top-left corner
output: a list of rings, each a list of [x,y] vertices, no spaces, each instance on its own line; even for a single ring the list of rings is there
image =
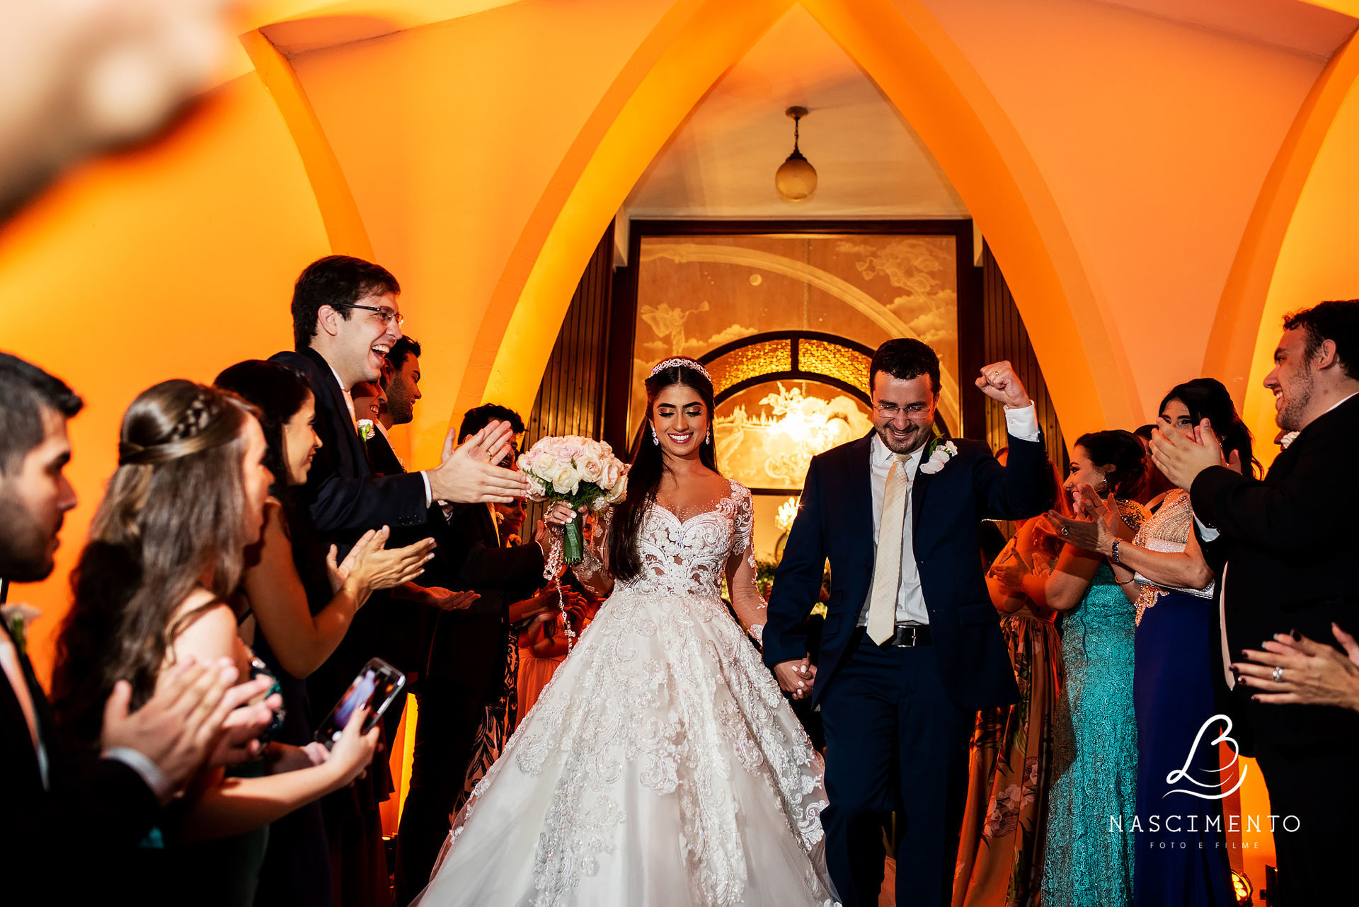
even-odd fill
[[[716,595],[622,588],[458,815],[420,907],[826,907],[822,764]]]

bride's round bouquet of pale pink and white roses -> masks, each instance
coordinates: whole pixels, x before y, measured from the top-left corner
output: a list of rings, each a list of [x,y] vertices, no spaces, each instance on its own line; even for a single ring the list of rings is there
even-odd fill
[[[595,511],[614,504],[628,490],[628,467],[603,441],[579,434],[544,437],[519,458],[519,471],[529,477],[530,501],[565,501],[571,509]],[[580,563],[584,538],[580,520],[563,528],[563,561]]]

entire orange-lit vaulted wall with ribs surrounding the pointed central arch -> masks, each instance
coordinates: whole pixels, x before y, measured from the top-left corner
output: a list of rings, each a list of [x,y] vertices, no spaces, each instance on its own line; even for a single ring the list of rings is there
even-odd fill
[[[527,409],[609,219],[794,3],[254,4],[246,75],[0,234],[0,348],[88,402],[58,570],[15,592],[46,612],[41,671],[136,392],[289,346],[302,266],[371,250],[424,344],[412,464],[466,406]],[[1328,61],[1086,0],[802,3],[973,213],[1068,437],[1148,421],[1208,363],[1269,447],[1258,382],[1280,315],[1359,296],[1359,53]],[[270,34],[317,49],[285,56]],[[325,46],[336,35],[363,39]],[[1214,338],[1253,358],[1214,354]]]

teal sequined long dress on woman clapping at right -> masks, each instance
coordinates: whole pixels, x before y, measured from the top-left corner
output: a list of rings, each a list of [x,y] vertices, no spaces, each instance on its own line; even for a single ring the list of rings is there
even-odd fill
[[[1135,616],[1113,572],[1101,563],[1080,604],[1063,622],[1067,676],[1053,714],[1044,907],[1132,903]]]

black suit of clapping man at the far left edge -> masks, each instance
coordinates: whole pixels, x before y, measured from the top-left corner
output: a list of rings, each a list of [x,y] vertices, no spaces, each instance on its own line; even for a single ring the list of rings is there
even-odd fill
[[[8,638],[8,630],[0,627]],[[125,872],[135,847],[160,812],[136,771],[116,759],[72,759],[61,751],[48,697],[19,656],[38,735],[48,754],[46,789],[19,699],[0,671],[0,854],[15,883],[41,885],[50,903],[88,896],[96,885],[107,897],[128,891]],[[72,865],[79,870],[72,873]],[[122,872],[120,872],[122,870]],[[109,873],[114,873],[110,877]],[[8,887],[8,885],[7,885]],[[114,897],[117,899],[117,897]]]

